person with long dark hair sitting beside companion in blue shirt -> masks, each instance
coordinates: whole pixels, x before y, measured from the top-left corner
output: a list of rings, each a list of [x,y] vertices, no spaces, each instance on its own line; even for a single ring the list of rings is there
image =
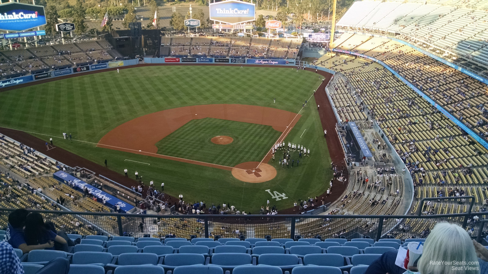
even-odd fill
[[[40,213],[31,213],[25,218],[25,242],[29,245],[45,244],[50,242],[60,243],[61,245],[67,245],[67,241],[51,231],[46,224]],[[46,249],[54,250],[54,247],[48,247]]]

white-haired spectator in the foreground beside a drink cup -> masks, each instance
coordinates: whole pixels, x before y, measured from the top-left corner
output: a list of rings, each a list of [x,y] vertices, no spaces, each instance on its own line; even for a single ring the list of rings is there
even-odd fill
[[[388,251],[367,268],[365,274],[486,274],[486,262],[478,260],[471,237],[460,226],[438,223],[428,235],[423,254],[409,271],[395,265],[397,251]],[[411,271],[411,272],[410,272]]]

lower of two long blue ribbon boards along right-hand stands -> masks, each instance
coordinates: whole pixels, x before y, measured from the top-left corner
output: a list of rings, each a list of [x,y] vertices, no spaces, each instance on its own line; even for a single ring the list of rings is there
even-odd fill
[[[360,53],[352,52],[352,51],[348,51],[348,50],[332,49],[332,51],[346,53],[346,54],[355,55],[355,56],[359,56],[359,57],[362,57],[362,58],[370,59],[370,60],[373,60],[373,61],[379,63],[380,65],[384,66],[393,75],[395,75],[400,80],[402,80],[404,83],[406,83],[407,86],[410,87],[411,89],[413,89],[418,95],[420,95],[422,98],[426,99],[431,105],[433,105],[440,112],[442,112],[442,114],[444,114],[445,116],[447,116],[447,118],[449,118],[451,121],[453,121],[456,125],[458,125],[464,131],[466,131],[471,137],[473,137],[477,142],[479,142],[482,146],[484,146],[486,149],[488,149],[488,142],[485,139],[483,139],[482,137],[478,136],[473,130],[471,130],[468,126],[466,126],[458,118],[452,116],[452,114],[450,114],[445,108],[441,107],[434,100],[432,100],[432,98],[428,97],[425,93],[423,93],[421,90],[419,90],[416,86],[412,85],[407,79],[401,77],[398,73],[396,73],[392,68],[390,68],[383,61],[378,60],[378,59],[373,58],[373,57],[370,57],[370,56],[367,56],[367,55],[364,55],[364,54],[360,54]],[[309,67],[312,67],[312,66],[309,66]]]

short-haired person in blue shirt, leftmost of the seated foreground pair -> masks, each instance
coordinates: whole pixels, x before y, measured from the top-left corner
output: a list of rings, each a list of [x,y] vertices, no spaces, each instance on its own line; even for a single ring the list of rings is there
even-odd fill
[[[31,250],[52,248],[53,242],[46,242],[43,244],[27,245],[24,237],[24,223],[25,218],[29,212],[25,209],[16,209],[8,215],[8,225],[6,239],[13,248],[20,249],[23,253],[29,253]]]

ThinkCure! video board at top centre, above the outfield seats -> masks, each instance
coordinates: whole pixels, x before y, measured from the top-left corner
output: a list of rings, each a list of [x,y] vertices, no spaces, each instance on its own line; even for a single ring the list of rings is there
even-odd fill
[[[237,0],[210,3],[210,20],[238,24],[256,20],[256,4]]]

